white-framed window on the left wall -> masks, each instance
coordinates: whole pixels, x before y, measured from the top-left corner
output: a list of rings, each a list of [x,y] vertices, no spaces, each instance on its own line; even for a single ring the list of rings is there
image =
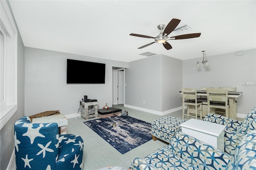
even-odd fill
[[[18,31],[6,0],[0,1],[0,129],[17,111]]]

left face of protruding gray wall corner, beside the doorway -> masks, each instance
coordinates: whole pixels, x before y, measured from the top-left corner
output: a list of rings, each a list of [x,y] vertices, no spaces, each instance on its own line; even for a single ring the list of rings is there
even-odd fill
[[[162,111],[160,56],[154,55],[129,63],[129,69],[125,69],[126,105]]]

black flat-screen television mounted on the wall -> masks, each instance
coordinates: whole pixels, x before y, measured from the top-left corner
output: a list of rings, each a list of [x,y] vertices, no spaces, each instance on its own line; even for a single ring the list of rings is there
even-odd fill
[[[67,59],[67,84],[104,84],[103,63]]]

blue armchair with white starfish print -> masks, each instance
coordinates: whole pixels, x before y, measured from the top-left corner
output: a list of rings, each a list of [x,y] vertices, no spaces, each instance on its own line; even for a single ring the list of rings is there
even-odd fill
[[[84,142],[74,134],[58,134],[57,123],[31,123],[25,116],[14,123],[18,170],[82,170]]]

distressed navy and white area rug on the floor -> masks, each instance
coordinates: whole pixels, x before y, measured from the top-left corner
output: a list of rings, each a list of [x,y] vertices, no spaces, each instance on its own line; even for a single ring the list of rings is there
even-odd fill
[[[113,127],[113,123],[116,124]],[[122,116],[106,117],[84,122],[121,154],[152,139],[151,123]]]

